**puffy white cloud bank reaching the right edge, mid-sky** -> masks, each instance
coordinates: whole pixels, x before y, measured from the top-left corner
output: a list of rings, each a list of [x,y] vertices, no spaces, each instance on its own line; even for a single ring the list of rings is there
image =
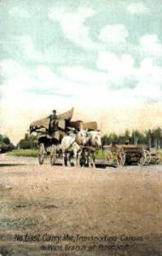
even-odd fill
[[[152,58],[142,59],[139,67],[135,66],[132,55],[115,55],[113,52],[100,51],[96,60],[98,70],[91,70],[85,67],[60,67],[59,71],[64,79],[69,80],[69,88],[72,83],[76,83],[78,90],[92,91],[95,93],[97,88],[102,87],[104,95],[108,95],[111,90],[128,90],[129,96],[136,96],[136,87],[149,84],[149,87],[162,89],[162,67],[156,66]],[[91,87],[90,87],[91,86]],[[94,88],[94,89],[93,89]],[[142,87],[144,88],[144,87]],[[90,90],[89,90],[90,89]],[[101,93],[99,93],[101,95]],[[104,96],[103,95],[103,96]],[[140,95],[138,95],[140,97]],[[148,97],[155,94],[142,94],[141,98],[148,100]],[[123,95],[123,98],[124,95]]]

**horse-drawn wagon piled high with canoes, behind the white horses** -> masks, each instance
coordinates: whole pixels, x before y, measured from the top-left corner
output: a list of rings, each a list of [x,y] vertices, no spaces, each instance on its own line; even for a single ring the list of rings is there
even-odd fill
[[[75,151],[74,154],[71,150],[72,144],[70,144],[69,148],[67,147],[66,151],[65,148],[64,150],[61,150],[61,142],[63,137],[68,135],[72,135],[72,137],[77,137],[79,132],[84,131],[86,133],[85,137],[87,139],[88,131],[98,131],[97,123],[94,121],[86,123],[84,123],[82,120],[71,121],[72,113],[73,108],[66,113],[58,115],[56,125],[52,131],[51,129],[49,129],[49,118],[38,119],[37,121],[32,122],[32,124],[30,125],[30,132],[37,133],[38,162],[40,165],[43,165],[43,160],[46,155],[49,155],[50,164],[52,166],[55,164],[55,160],[57,158],[62,158],[64,156],[64,164],[67,166],[67,160],[71,160],[73,155],[74,158],[77,157],[78,160],[78,155],[76,156],[76,154],[79,154],[79,156],[81,154],[81,166],[95,166],[95,147],[90,147],[90,142],[88,142],[88,145],[84,147],[84,143],[80,141],[77,142],[75,138],[73,143],[78,143],[81,150],[79,148],[78,152]],[[82,139],[84,139],[83,135]],[[97,140],[97,136],[95,136],[95,139]],[[76,145],[73,144],[73,146],[75,147]]]

